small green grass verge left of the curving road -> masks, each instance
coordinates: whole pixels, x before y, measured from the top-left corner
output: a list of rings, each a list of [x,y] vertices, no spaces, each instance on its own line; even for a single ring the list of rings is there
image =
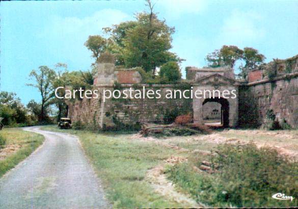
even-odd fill
[[[42,135],[25,132],[20,128],[4,128],[1,130],[0,135],[6,139],[7,145],[21,145],[21,148],[16,152],[9,154],[5,159],[0,160],[0,177],[29,156],[44,141]]]

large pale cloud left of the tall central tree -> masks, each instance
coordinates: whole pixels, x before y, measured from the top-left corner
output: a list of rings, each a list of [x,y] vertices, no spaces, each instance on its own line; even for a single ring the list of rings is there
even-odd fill
[[[37,34],[44,44],[46,54],[57,62],[67,62],[74,66],[91,64],[91,53],[84,46],[90,35],[102,34],[102,28],[111,27],[131,19],[120,10],[104,9],[84,18],[53,16],[49,23]]]

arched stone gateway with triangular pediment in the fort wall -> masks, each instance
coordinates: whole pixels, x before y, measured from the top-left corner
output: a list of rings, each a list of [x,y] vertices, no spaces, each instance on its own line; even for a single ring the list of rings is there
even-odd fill
[[[233,78],[233,74],[226,73],[226,69],[216,71],[208,71],[208,69],[210,68],[196,69],[196,73],[194,73],[196,74],[195,81],[192,83],[194,92],[197,90],[206,92],[205,98],[204,96],[202,98],[194,97],[194,122],[204,124],[204,119],[206,119],[204,118],[204,114],[206,113],[203,112],[203,106],[208,102],[217,102],[220,104],[217,110],[209,108],[211,118],[213,116],[212,114],[219,114],[219,120],[222,126],[235,127],[238,125],[238,86],[240,83]],[[230,94],[227,92],[230,92]],[[232,95],[231,92],[236,96],[234,94]]]

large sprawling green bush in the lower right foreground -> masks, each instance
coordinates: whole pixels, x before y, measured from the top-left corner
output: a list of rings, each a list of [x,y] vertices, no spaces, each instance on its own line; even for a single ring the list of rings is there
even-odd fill
[[[212,207],[297,206],[297,199],[272,198],[278,192],[298,196],[298,164],[276,149],[224,144],[210,158],[213,174],[197,173],[188,162],[169,169],[170,178],[198,202]]]

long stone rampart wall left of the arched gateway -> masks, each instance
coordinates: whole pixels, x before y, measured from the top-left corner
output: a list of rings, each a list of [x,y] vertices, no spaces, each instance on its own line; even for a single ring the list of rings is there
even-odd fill
[[[118,90],[121,92],[124,89],[142,90],[145,86],[146,91],[151,90],[161,90],[160,99],[106,99],[105,102],[102,98],[97,99],[87,99],[68,101],[69,112],[68,117],[71,118],[73,122],[81,121],[84,124],[93,124],[99,127],[103,125],[113,126],[115,119],[119,122],[125,124],[135,124],[136,122],[162,122],[165,114],[178,111],[179,114],[192,113],[192,99],[177,98],[177,99],[167,99],[165,97],[166,91],[168,89],[182,89],[176,85],[129,85],[122,84]],[[103,92],[103,89],[111,89],[113,87],[105,86],[99,87],[99,92]]]

